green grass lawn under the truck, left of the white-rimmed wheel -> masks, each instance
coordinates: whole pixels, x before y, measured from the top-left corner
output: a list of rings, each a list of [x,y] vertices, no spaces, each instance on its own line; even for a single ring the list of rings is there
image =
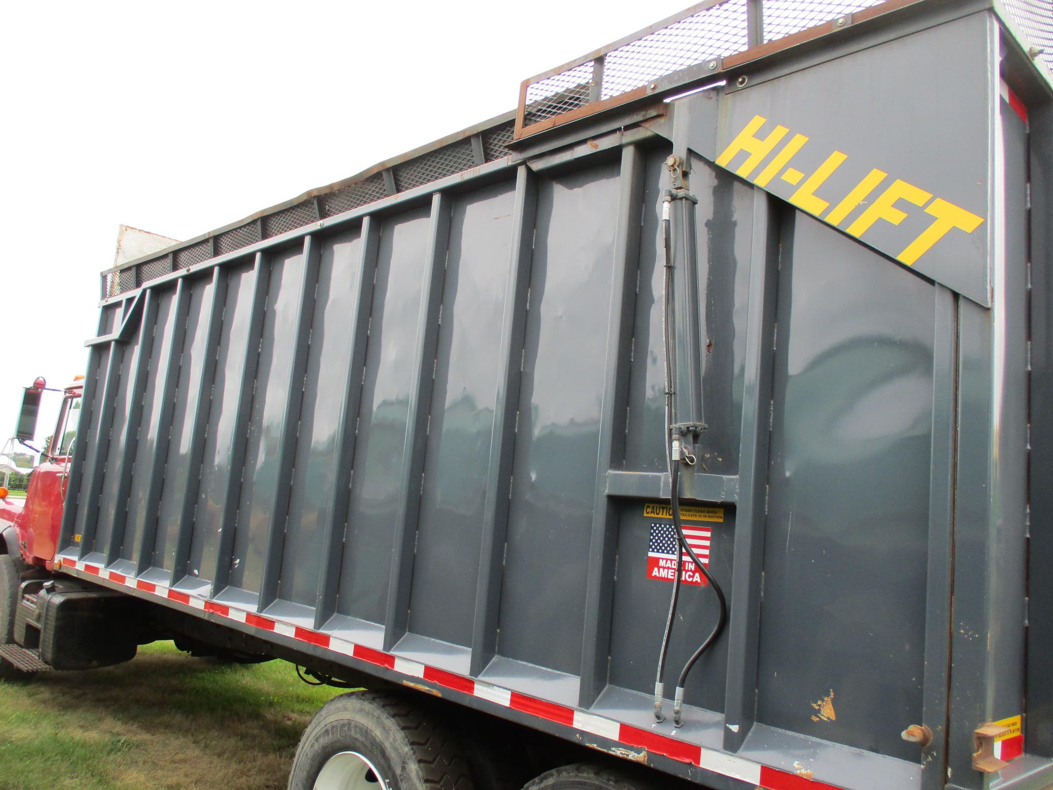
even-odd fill
[[[300,731],[338,693],[284,661],[219,665],[171,643],[0,682],[0,790],[284,788]]]

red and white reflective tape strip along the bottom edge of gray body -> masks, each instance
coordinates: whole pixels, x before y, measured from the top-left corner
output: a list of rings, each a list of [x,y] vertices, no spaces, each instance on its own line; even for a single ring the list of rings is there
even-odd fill
[[[157,595],[177,604],[208,612],[210,614],[244,623],[253,628],[271,631],[292,639],[298,639],[319,648],[324,648],[325,650],[357,658],[366,664],[383,667],[408,677],[419,678],[436,686],[470,694],[495,705],[542,718],[547,722],[573,727],[581,732],[598,735],[608,740],[617,742],[625,747],[643,749],[645,752],[652,754],[660,754],[670,759],[698,766],[707,771],[739,779],[764,790],[841,790],[841,788],[816,782],[804,775],[769,768],[759,763],[736,757],[733,754],[716,751],[715,749],[706,749],[696,744],[689,744],[657,732],[642,730],[620,722],[615,722],[612,718],[604,718],[594,713],[538,699],[526,694],[520,694],[517,691],[492,686],[482,680],[473,680],[471,677],[464,677],[436,667],[429,667],[409,658],[400,658],[397,655],[367,648],[364,645],[346,641],[321,631],[282,623],[273,617],[264,617],[263,615],[246,612],[242,609],[229,607],[225,604],[218,604],[196,595],[187,595],[163,585],[155,585],[125,576],[121,573],[107,571],[97,565],[90,565],[66,557],[62,557],[61,559],[62,566],[60,570],[63,572],[76,571],[87,577],[107,579],[140,592]]]

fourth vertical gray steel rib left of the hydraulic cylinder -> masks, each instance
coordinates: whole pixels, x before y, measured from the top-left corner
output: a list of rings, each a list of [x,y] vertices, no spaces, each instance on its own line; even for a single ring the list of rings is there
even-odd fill
[[[336,429],[336,473],[332,499],[319,516],[322,535],[322,560],[318,574],[318,593],[315,598],[315,628],[321,628],[336,611],[336,595],[340,584],[340,561],[344,528],[347,519],[347,499],[351,494],[351,473],[355,461],[356,427],[358,409],[362,400],[362,369],[369,343],[370,315],[373,308],[373,278],[377,269],[377,251],[380,246],[380,221],[365,216],[359,241],[358,281],[354,283],[354,315],[351,329],[351,355],[343,382],[343,401],[340,406]]]

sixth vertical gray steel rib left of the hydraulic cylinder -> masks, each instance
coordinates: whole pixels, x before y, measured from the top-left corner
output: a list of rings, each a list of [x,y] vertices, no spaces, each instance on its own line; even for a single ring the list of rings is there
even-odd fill
[[[245,333],[245,348],[241,359],[241,370],[232,371],[240,378],[238,402],[234,415],[231,445],[231,462],[220,481],[219,547],[216,551],[216,567],[212,574],[212,595],[226,587],[231,578],[231,555],[234,553],[234,529],[238,517],[238,498],[241,495],[241,475],[245,463],[245,445],[249,441],[249,419],[253,410],[253,394],[256,364],[259,361],[260,335],[263,332],[263,312],[266,305],[267,288],[271,284],[271,265],[263,253],[256,253],[253,266],[253,295],[249,305],[249,331]]]

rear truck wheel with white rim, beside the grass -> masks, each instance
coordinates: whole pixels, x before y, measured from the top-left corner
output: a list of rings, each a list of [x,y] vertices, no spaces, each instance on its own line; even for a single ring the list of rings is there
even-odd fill
[[[341,694],[300,737],[289,790],[474,790],[460,744],[409,699]]]

